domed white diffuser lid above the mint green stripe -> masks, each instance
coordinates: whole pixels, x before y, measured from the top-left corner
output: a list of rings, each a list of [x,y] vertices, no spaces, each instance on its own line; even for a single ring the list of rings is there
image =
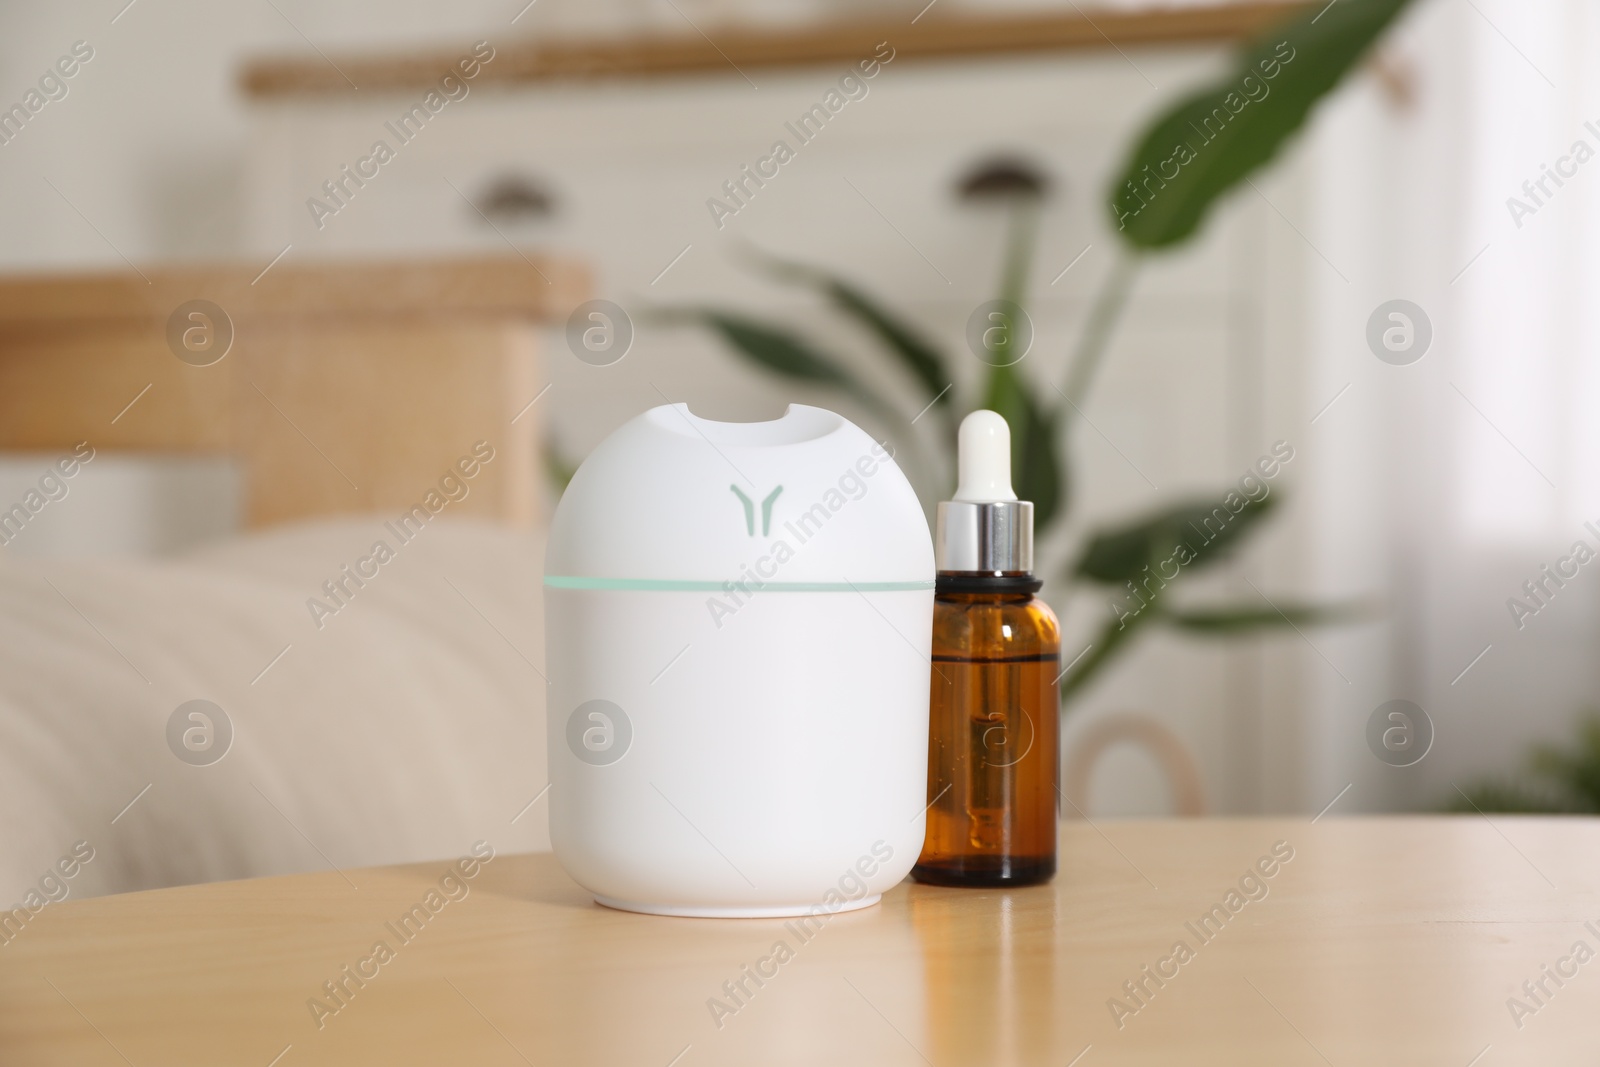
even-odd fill
[[[619,427],[555,509],[546,585],[706,589],[754,576],[848,592],[933,589],[922,504],[890,453],[822,408],[714,422],[688,405]]]

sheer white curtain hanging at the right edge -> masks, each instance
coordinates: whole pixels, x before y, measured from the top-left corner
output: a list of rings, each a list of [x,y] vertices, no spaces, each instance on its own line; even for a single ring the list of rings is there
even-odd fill
[[[1523,592],[1574,542],[1600,552],[1597,43],[1582,0],[1424,2],[1312,136],[1314,584],[1378,593],[1386,621],[1318,638],[1338,670],[1309,675],[1310,801],[1434,808],[1600,705],[1600,560],[1542,606]],[[1365,341],[1390,299],[1432,322],[1408,366]],[[1520,627],[1514,597],[1538,606]],[[1435,728],[1402,769],[1363,736],[1397,697]]]

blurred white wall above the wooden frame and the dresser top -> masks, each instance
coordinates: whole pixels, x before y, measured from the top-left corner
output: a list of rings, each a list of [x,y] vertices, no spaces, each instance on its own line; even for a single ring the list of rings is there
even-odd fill
[[[1187,0],[1194,5],[1195,0]],[[91,0],[0,13],[0,99],[11,104],[74,42],[94,58],[26,133],[0,146],[0,269],[120,267],[243,250],[251,128],[237,91],[261,54],[438,48],[528,35],[691,32],[821,16],[915,14],[902,0]],[[1064,8],[941,0],[941,8]],[[1090,5],[1096,6],[1096,5]],[[1118,0],[1109,6],[1150,6]],[[1171,6],[1171,5],[1168,5]],[[51,190],[51,182],[59,194]]]

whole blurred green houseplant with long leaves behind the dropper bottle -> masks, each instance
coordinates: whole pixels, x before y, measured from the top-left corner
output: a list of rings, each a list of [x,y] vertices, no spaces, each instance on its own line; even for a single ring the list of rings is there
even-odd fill
[[[1334,0],[1296,8],[1288,19],[1245,45],[1232,67],[1213,83],[1192,91],[1160,114],[1134,139],[1126,163],[1107,192],[1117,254],[1099,294],[1083,320],[1062,384],[1030,381],[1016,366],[1026,283],[1037,232],[1043,186],[1026,168],[1000,163],[973,174],[963,192],[1000,200],[1006,214],[1006,254],[1002,266],[994,325],[984,331],[989,363],[978,395],[958,397],[950,386],[944,349],[928,333],[901,318],[866,288],[832,270],[765,254],[755,267],[778,283],[818,293],[830,309],[866,331],[885,358],[894,362],[922,390],[941,426],[949,470],[955,426],[973,408],[998,411],[1011,424],[1013,474],[1018,494],[1035,504],[1040,536],[1061,522],[1072,502],[1070,440],[1104,360],[1115,325],[1142,262],[1192,240],[1213,206],[1274,160],[1323,99],[1406,8],[1410,0]],[[779,323],[722,307],[683,307],[662,314],[715,333],[741,358],[782,378],[822,386],[851,397],[861,408],[898,422],[896,405],[805,334]],[[1018,357],[1019,358],[1019,357]],[[1179,499],[1118,526],[1091,534],[1061,573],[1054,598],[1077,590],[1101,593],[1134,589],[1147,568],[1184,544],[1190,557],[1179,576],[1152,589],[1144,584],[1141,608],[1107,621],[1086,654],[1061,678],[1066,704],[1130,638],[1154,625],[1195,635],[1235,635],[1269,627],[1328,621],[1341,614],[1310,605],[1221,603],[1178,606],[1171,589],[1224,558],[1272,514],[1277,496],[1245,501],[1221,536],[1192,537],[1222,494]]]

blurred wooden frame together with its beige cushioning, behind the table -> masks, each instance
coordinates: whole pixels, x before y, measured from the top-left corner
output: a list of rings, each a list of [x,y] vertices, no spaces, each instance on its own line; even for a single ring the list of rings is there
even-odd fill
[[[538,341],[586,288],[523,258],[0,282],[0,448],[42,480],[227,454],[248,526],[0,547],[0,899],[549,848]]]

